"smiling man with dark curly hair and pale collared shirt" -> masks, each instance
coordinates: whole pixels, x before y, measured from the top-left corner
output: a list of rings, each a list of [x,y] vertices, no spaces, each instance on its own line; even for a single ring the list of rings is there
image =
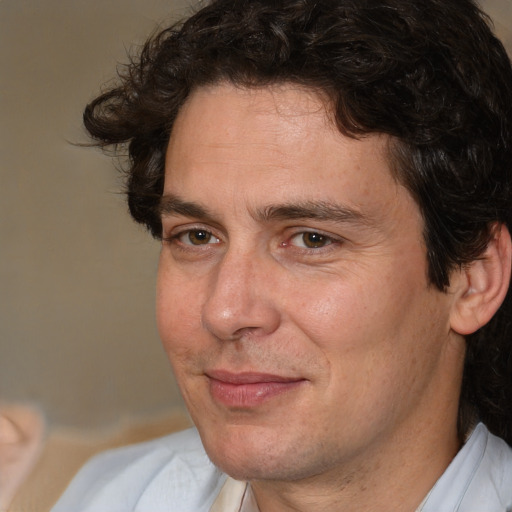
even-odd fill
[[[55,512],[512,507],[512,70],[470,0],[213,1],[85,123],[197,430]]]

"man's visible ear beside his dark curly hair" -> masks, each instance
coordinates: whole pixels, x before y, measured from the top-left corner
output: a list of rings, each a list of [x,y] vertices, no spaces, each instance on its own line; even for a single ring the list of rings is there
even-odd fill
[[[454,275],[455,302],[451,328],[462,335],[484,326],[498,311],[508,291],[512,261],[512,242],[504,224],[496,224],[481,258]],[[452,285],[450,285],[452,288]]]

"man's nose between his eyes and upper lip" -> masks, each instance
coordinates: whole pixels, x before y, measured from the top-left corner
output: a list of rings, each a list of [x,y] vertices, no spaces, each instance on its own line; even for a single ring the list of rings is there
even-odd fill
[[[280,323],[272,289],[272,263],[253,254],[224,255],[216,266],[202,310],[203,326],[221,340],[264,337]]]

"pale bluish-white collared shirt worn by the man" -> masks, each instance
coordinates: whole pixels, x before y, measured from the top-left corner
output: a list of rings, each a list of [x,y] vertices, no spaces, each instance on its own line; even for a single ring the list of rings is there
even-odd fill
[[[512,511],[512,449],[480,424],[421,512]],[[52,512],[257,512],[244,482],[208,460],[194,429],[92,459]]]

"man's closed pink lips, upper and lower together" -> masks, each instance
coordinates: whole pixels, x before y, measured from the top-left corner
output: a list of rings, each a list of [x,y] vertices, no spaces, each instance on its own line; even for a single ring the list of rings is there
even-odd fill
[[[289,393],[306,379],[268,373],[231,373],[224,370],[206,372],[214,401],[228,408],[251,409]]]

